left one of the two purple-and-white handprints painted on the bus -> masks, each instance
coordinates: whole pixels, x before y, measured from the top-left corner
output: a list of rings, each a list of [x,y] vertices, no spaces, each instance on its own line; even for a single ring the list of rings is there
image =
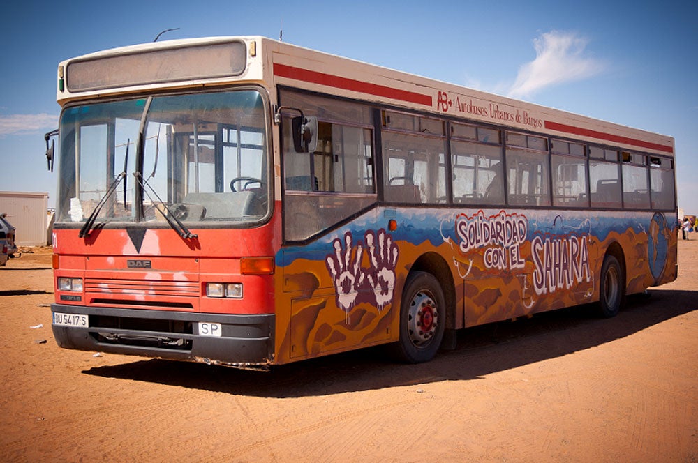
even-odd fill
[[[337,305],[349,312],[356,304],[359,295],[359,288],[364,283],[364,271],[361,268],[361,259],[364,247],[359,241],[354,250],[352,259],[352,236],[351,232],[344,234],[346,249],[342,249],[339,238],[332,242],[334,245],[334,255],[328,254],[325,258],[329,274],[334,281]]]

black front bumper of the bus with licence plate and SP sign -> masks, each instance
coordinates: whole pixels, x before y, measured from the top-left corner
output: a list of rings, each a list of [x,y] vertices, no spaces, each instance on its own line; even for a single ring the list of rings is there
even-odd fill
[[[274,314],[231,315],[52,304],[64,349],[242,368],[274,363]]]

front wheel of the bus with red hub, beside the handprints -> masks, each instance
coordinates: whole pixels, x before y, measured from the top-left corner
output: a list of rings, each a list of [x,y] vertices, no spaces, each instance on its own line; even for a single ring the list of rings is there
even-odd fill
[[[436,356],[445,326],[446,302],[438,280],[431,273],[410,273],[402,292],[394,356],[406,363],[428,362]]]

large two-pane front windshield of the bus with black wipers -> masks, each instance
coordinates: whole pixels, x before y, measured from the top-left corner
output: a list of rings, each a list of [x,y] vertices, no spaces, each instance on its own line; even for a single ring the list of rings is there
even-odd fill
[[[256,90],[67,107],[60,148],[59,222],[248,224],[269,211]]]

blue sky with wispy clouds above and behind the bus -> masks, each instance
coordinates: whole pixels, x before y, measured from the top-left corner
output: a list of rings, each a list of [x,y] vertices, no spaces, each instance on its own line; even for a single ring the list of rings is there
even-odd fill
[[[49,192],[59,61],[202,36],[261,35],[676,139],[679,207],[698,214],[695,1],[3,2],[0,190]],[[102,4],[104,3],[104,4]]]

